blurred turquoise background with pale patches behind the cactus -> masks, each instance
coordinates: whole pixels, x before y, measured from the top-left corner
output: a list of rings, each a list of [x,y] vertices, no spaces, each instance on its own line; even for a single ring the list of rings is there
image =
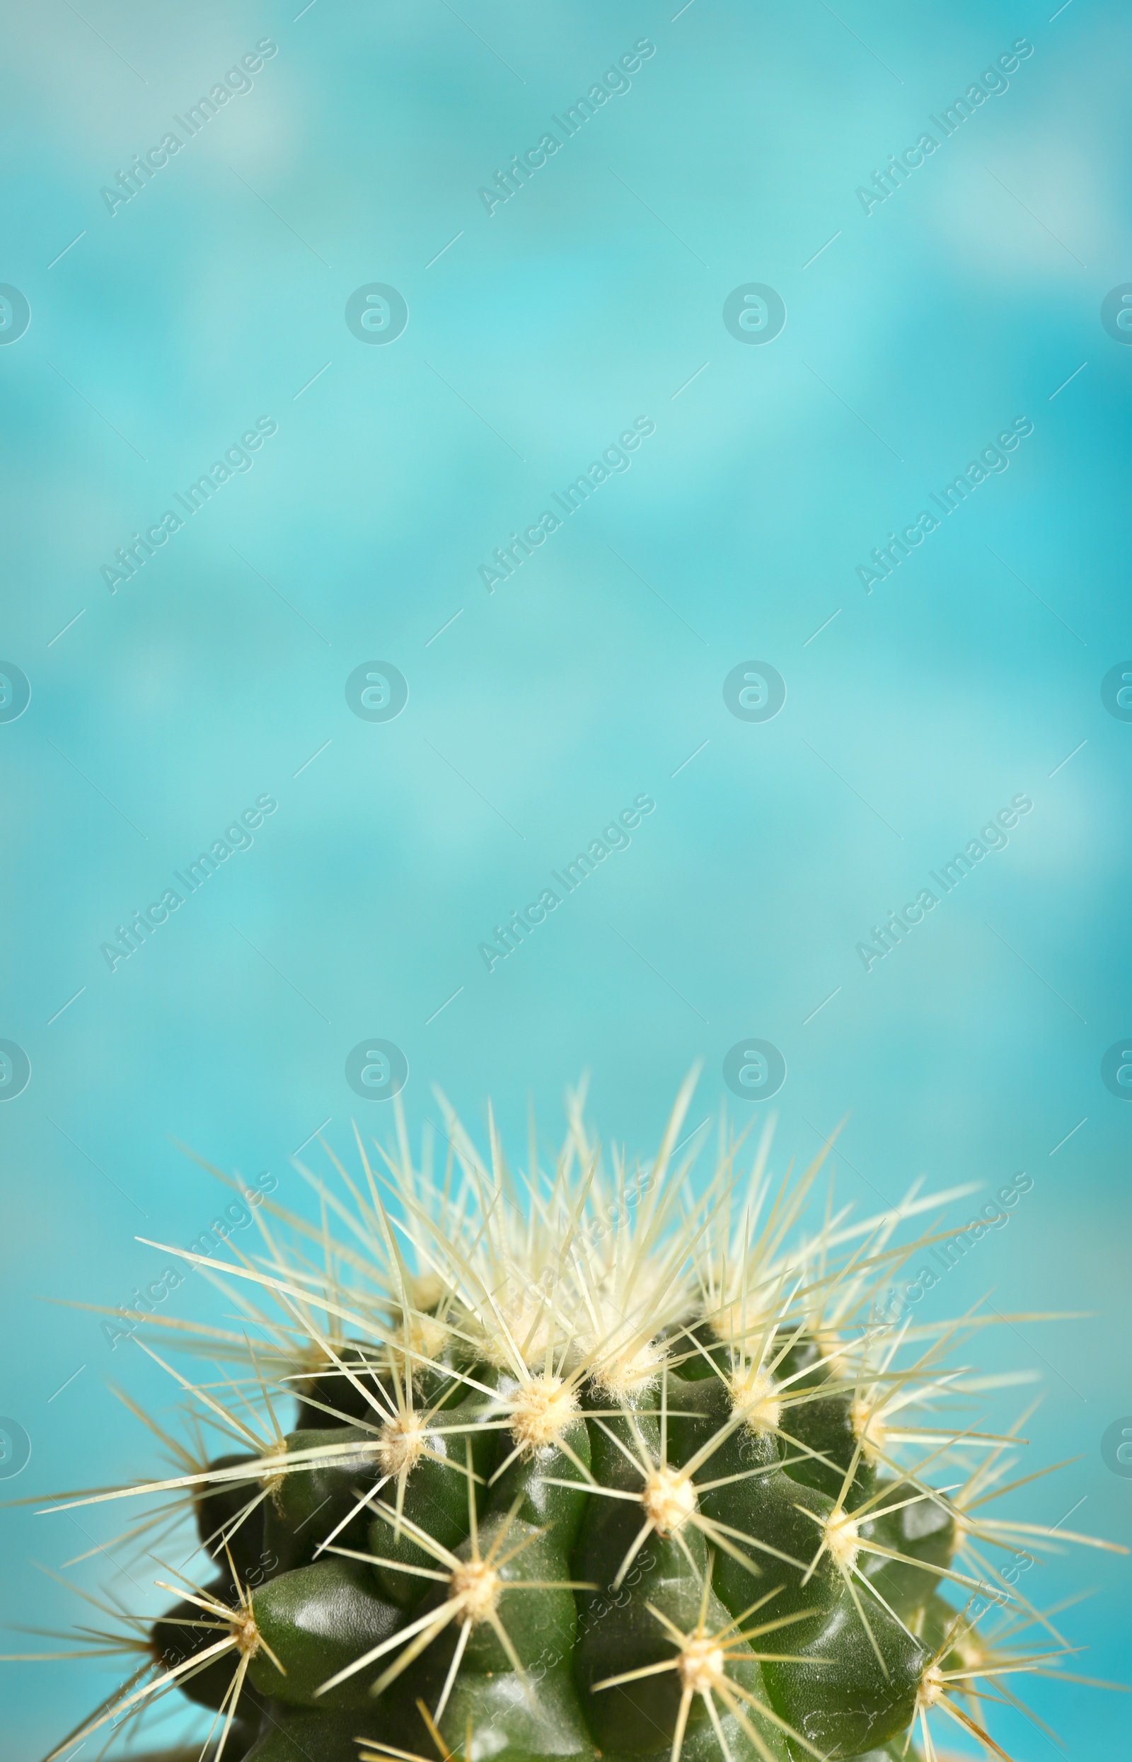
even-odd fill
[[[0,1107],[0,1408],[32,1462],[0,1491],[157,1466],[104,1383],[165,1420],[167,1378],[42,1299],[129,1304],[162,1263],[136,1235],[206,1226],[174,1140],[306,1203],[290,1152],[391,1128],[343,1075],[382,1036],[414,1135],[433,1084],[477,1124],[489,1096],[519,1161],[528,1096],[553,1142],[592,1071],[595,1122],[648,1154],[697,1059],[690,1124],[761,1122],[722,1082],[753,1034],[787,1062],[780,1168],[845,1121],[861,1207],[1032,1175],[921,1313],[1092,1311],[977,1353],[1042,1376],[1026,1466],[1076,1459],[1016,1515],[1132,1542],[1100,1457],[1132,1413],[1132,1107],[1100,1080],[1132,1029],[1132,722],[1100,700],[1132,654],[1132,347],[1100,322],[1132,280],[1127,11],[299,5],[7,11],[0,280],[32,319],[0,347],[0,650],[32,700],[0,724],[0,1038],[32,1078]],[[111,215],[100,189],[264,37],[252,90]],[[488,215],[479,187],[643,37],[630,90]],[[1021,37],[1009,90],[866,215],[856,189]],[[386,347],[343,317],[370,282],[408,305]],[[787,307],[764,347],[722,322],[746,282]],[[254,469],[109,592],[261,416]],[[630,470],[488,594],[493,546],[639,416]],[[1016,418],[1009,470],[866,594],[871,546]],[[384,724],[345,700],[375,657],[408,680]],[[750,657],[787,682],[762,724],[722,696]],[[114,927],[262,793],[252,848],[111,973]],[[488,973],[493,925],[641,793],[632,844]],[[856,943],[1018,793],[1009,846],[866,973]],[[0,1519],[7,1619],[67,1626],[32,1561],[116,1531],[33,1512]],[[67,1577],[165,1602],[114,1573]],[[1127,1561],[1049,1556],[1026,1589],[1079,1586],[1076,1669],[1127,1676]],[[4,1667],[5,1755],[109,1688]],[[1120,1697],[1025,1692],[1074,1758],[1127,1748]]]

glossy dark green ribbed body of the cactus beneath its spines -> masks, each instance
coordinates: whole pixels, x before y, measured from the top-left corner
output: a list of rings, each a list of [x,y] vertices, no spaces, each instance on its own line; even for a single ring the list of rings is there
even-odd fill
[[[236,1529],[232,1563],[269,1565],[241,1704],[259,1723],[232,1732],[231,1762],[354,1762],[359,1737],[433,1758],[468,1734],[468,1762],[667,1762],[678,1732],[683,1762],[903,1755],[952,1616],[931,1570],[954,1549],[947,1503],[877,1477],[812,1341],[780,1366],[796,1380],[775,1433],[736,1406],[702,1323],[697,1337],[688,1374],[618,1403],[584,1385],[539,1447],[512,1431],[514,1378],[474,1366],[481,1388],[449,1404],[433,1390],[401,1485],[364,1417],[292,1433],[289,1454],[357,1448],[289,1473]],[[312,1383],[305,1411],[326,1394]],[[644,1496],[665,1475],[676,1515]],[[202,1538],[246,1499],[197,1499]],[[488,1603],[459,1603],[484,1572]],[[174,1632],[194,1630],[158,1623],[155,1644]],[[229,1681],[222,1660],[187,1688],[218,1706]]]

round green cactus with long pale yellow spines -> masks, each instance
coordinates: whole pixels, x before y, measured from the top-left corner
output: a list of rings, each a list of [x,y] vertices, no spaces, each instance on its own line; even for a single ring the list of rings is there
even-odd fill
[[[246,1330],[116,1311],[224,1364],[173,1373],[224,1448],[129,1489],[204,1566],[158,1577],[137,1669],[53,1757],[173,1692],[213,1762],[891,1762],[945,1727],[1003,1755],[977,1684],[1062,1653],[995,1565],[1039,1535],[986,1508],[1018,1438],[947,1417],[977,1320],[880,1320],[938,1196],[831,1195],[806,1233],[820,1159],[775,1188],[764,1138],[739,1179],[724,1128],[695,1196],[688,1098],[636,1170],[577,1098],[525,1177],[451,1115],[417,1168],[398,1119],[359,1179],[303,1170],[320,1230],[264,1200],[257,1253],[181,1256]],[[986,1633],[1007,1605],[1037,1649]]]

